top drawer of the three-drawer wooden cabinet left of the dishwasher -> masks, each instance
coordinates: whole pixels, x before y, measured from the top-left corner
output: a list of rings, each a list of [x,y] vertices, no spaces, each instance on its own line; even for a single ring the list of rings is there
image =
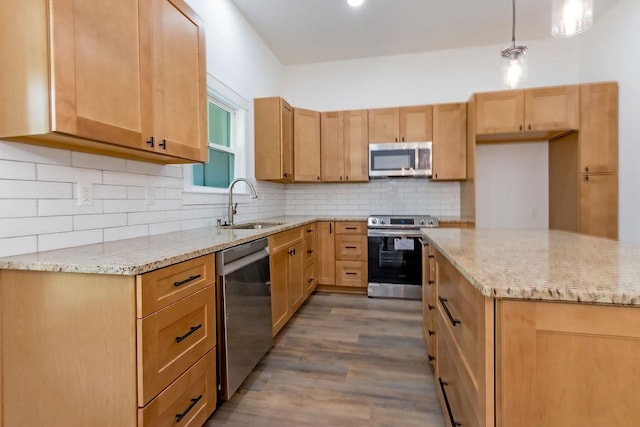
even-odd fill
[[[213,266],[213,255],[206,255],[137,276],[138,318],[213,284]]]

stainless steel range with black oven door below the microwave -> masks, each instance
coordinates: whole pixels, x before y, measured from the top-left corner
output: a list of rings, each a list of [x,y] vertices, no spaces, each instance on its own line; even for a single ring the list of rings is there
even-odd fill
[[[433,228],[438,225],[438,219],[430,215],[370,217],[367,220],[367,295],[379,298],[421,299],[420,228]]]

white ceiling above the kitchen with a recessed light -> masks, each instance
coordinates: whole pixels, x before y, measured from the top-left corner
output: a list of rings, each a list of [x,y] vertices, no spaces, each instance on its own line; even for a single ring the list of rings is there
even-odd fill
[[[232,0],[284,65],[511,41],[510,0]],[[594,0],[594,20],[619,0]],[[516,42],[551,38],[552,0],[516,1]]]

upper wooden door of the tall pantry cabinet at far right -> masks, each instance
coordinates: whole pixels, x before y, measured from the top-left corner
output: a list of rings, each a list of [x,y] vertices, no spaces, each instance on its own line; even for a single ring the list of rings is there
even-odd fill
[[[618,171],[618,85],[580,87],[580,170]]]

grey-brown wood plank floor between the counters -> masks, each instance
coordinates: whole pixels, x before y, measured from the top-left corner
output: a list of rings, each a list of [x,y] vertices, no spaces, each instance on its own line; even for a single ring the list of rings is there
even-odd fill
[[[444,426],[420,307],[312,295],[205,427]]]

